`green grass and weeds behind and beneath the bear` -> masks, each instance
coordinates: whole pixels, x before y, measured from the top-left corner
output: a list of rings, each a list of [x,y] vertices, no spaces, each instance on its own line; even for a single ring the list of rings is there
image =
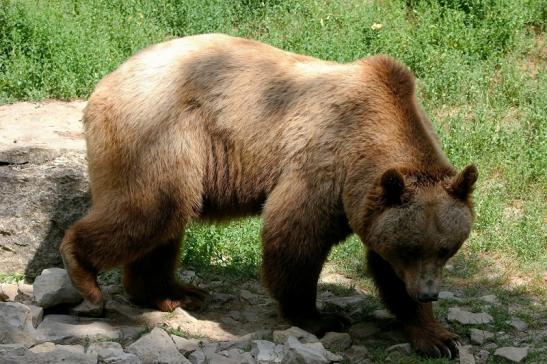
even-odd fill
[[[340,62],[390,54],[416,73],[450,160],[480,171],[475,229],[450,282],[494,289],[517,276],[545,296],[545,24],[542,0],[0,0],[0,104],[86,98],[138,49],[189,34],[250,37]],[[192,225],[185,245],[186,265],[256,277],[260,221]],[[330,261],[366,280],[362,257],[352,237]],[[487,282],[491,271],[501,275]]]

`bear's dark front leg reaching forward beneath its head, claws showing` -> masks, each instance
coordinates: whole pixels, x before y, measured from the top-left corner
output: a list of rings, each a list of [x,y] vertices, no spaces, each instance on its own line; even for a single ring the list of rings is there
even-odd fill
[[[386,307],[403,323],[412,346],[419,353],[449,358],[458,353],[457,335],[444,328],[433,315],[431,303],[412,299],[405,284],[380,255],[369,251],[367,263]]]

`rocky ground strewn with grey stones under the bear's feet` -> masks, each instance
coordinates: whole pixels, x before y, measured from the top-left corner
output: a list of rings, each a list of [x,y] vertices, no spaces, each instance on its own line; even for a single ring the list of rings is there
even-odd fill
[[[320,340],[289,327],[256,281],[205,281],[193,271],[182,278],[208,289],[198,313],[163,313],[132,305],[119,284],[103,284],[104,305],[91,306],[70,285],[66,272],[50,268],[33,285],[3,283],[0,297],[0,362],[4,363],[414,363],[397,322],[376,299],[336,274],[322,276],[319,305],[344,312],[348,333]],[[233,283],[233,282],[231,282]],[[342,287],[342,288],[340,288]],[[345,287],[345,288],[344,288]],[[482,302],[475,310],[474,300]],[[443,321],[465,332],[459,363],[544,363],[547,330],[507,317],[498,331],[489,312],[495,295],[477,298],[441,293]],[[442,311],[442,310],[441,310]],[[495,315],[499,316],[499,315]],[[535,325],[537,327],[537,325]],[[378,353],[381,350],[382,353]]]

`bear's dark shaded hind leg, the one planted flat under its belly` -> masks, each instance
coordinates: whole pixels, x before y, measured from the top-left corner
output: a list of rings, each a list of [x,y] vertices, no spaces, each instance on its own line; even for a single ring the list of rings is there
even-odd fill
[[[207,293],[180,283],[175,277],[180,245],[179,239],[171,239],[125,265],[124,288],[136,303],[151,305],[161,311],[201,307]]]

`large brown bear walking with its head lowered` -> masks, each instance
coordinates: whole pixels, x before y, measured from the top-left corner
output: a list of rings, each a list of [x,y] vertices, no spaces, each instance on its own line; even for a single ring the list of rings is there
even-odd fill
[[[451,355],[435,321],[441,270],[468,237],[474,166],[457,173],[388,57],[326,62],[220,34],[151,46],[99,82],[84,113],[92,208],[60,251],[74,286],[124,266],[136,301],[170,311],[205,293],[179,283],[191,220],[261,213],[263,281],[291,323],[322,334],[317,280],[352,232],[386,306],[418,350]]]

